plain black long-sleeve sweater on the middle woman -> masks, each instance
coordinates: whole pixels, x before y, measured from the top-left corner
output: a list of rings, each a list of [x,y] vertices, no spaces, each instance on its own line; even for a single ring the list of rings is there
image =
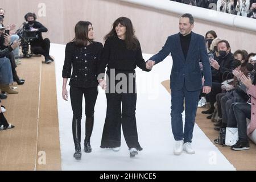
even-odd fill
[[[137,66],[143,71],[150,71],[146,69],[146,62],[142,57],[140,44],[137,49],[129,50],[126,47],[125,40],[119,39],[117,36],[106,40],[100,64],[101,73],[105,73],[106,67],[127,73],[135,73],[134,69]]]

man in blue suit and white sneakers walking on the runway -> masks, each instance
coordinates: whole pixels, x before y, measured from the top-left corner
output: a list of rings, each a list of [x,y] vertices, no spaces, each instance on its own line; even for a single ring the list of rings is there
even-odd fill
[[[171,72],[171,123],[176,140],[174,154],[184,150],[195,154],[191,147],[200,90],[208,94],[212,88],[212,74],[204,37],[192,32],[194,19],[191,14],[180,17],[180,32],[168,37],[162,50],[147,61],[147,69],[163,61],[170,53],[173,60]],[[204,69],[204,83],[199,62]],[[202,86],[203,85],[203,86]],[[185,99],[185,126],[183,133],[182,113]],[[183,141],[184,139],[184,141]]]

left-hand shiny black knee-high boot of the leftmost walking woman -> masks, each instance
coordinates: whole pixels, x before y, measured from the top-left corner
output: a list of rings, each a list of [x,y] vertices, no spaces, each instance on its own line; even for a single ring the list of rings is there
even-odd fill
[[[82,152],[81,152],[81,119],[76,119],[75,116],[73,116],[72,121],[72,131],[73,131],[73,139],[75,144],[75,154],[74,158],[76,160],[80,160],[82,158]]]

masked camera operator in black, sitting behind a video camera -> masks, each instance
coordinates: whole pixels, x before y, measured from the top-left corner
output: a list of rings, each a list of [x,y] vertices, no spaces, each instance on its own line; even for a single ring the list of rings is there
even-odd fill
[[[47,28],[43,26],[43,24],[36,22],[36,15],[35,13],[27,13],[24,16],[25,20],[28,22],[24,24],[25,30],[30,30],[31,32],[37,32],[38,39],[32,40],[31,43],[31,52],[40,55],[43,55],[45,58],[45,62],[47,64],[51,63],[53,59],[49,56],[49,49],[50,49],[50,40],[43,39],[42,32],[47,32]]]

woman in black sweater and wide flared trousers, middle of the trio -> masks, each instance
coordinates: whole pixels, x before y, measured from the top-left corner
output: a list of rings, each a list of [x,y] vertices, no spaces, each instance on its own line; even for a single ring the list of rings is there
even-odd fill
[[[121,17],[115,20],[112,31],[105,36],[101,73],[105,73],[106,66],[108,67],[106,72],[107,111],[101,148],[119,150],[122,125],[130,154],[134,156],[142,150],[138,142],[135,118],[137,93],[134,69],[138,66],[143,71],[150,70],[146,69],[141,46],[134,35],[133,24],[128,18]],[[122,76],[121,80],[127,80],[127,82],[120,85],[118,76]]]

